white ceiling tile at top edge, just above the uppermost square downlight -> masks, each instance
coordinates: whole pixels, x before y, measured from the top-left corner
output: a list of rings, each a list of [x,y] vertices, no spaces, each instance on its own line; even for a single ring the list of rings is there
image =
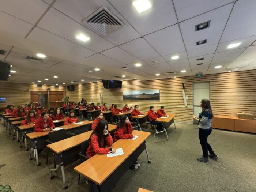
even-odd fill
[[[177,12],[178,20],[181,22],[233,1],[234,0],[174,0],[173,3]]]

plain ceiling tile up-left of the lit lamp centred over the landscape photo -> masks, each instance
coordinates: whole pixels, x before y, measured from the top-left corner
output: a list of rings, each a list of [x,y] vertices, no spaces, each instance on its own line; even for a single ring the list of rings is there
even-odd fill
[[[124,50],[120,49],[119,47],[114,47],[114,48],[105,50],[105,51],[101,52],[101,54],[108,56],[112,59],[115,59],[117,61],[120,61],[124,64],[135,63],[135,62],[140,61],[138,58],[125,52]]]

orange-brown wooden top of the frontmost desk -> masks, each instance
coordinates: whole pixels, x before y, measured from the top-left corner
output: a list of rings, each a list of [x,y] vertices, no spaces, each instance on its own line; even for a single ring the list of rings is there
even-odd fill
[[[133,130],[132,133],[139,137],[135,140],[120,139],[111,146],[112,148],[123,148],[124,155],[108,158],[106,154],[96,154],[76,166],[74,170],[101,185],[151,135],[149,132],[137,130]]]

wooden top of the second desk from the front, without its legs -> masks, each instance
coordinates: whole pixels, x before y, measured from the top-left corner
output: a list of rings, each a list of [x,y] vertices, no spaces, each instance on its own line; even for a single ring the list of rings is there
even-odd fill
[[[116,125],[109,124],[108,127],[109,127],[109,131],[111,131],[116,128]],[[66,151],[70,148],[78,146],[83,141],[88,140],[90,138],[92,132],[93,132],[93,130],[87,131],[85,133],[75,135],[71,138],[67,138],[67,139],[61,140],[59,142],[51,143],[51,144],[47,145],[47,147],[50,148],[55,153],[60,154],[63,151]]]

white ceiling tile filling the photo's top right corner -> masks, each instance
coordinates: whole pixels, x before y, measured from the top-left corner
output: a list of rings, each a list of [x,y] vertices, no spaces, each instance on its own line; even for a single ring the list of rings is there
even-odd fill
[[[236,1],[221,42],[255,35],[255,7],[255,0]]]

